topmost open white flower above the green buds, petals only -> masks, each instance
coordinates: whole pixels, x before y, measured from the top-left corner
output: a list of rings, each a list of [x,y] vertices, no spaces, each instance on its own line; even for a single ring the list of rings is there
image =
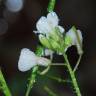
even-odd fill
[[[42,16],[37,24],[37,31],[34,31],[35,33],[43,33],[48,34],[52,32],[56,27],[59,28],[60,32],[64,32],[64,28],[58,25],[59,18],[55,12],[48,13],[47,17]]]

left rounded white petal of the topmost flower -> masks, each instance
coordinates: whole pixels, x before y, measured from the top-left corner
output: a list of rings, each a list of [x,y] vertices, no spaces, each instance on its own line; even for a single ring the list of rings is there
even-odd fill
[[[46,17],[42,16],[39,21],[37,22],[36,24],[36,27],[37,27],[37,30],[40,32],[40,33],[48,33],[48,32],[51,32],[51,27],[50,25],[48,24],[48,20]]]

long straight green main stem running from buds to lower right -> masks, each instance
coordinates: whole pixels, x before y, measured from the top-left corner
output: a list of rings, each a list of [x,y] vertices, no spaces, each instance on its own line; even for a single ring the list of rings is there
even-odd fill
[[[70,76],[71,76],[71,79],[72,79],[72,83],[73,83],[73,87],[74,87],[74,90],[76,92],[76,95],[77,96],[81,96],[81,92],[80,92],[80,89],[79,89],[79,86],[78,86],[78,83],[77,83],[77,80],[76,80],[76,77],[75,77],[75,73],[73,72],[73,70],[71,68],[71,65],[69,63],[67,55],[64,53],[63,56],[64,56],[65,61],[67,63],[67,68],[68,68],[68,71],[70,73]]]

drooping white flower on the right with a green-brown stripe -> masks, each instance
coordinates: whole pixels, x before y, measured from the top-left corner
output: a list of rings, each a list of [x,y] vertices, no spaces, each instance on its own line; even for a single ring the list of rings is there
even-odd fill
[[[76,33],[76,32],[77,33]],[[76,45],[77,47],[77,50],[78,50],[78,53],[79,54],[82,54],[82,42],[83,42],[83,37],[82,37],[82,33],[80,30],[74,30],[74,28],[71,28],[67,33],[66,33],[66,36],[70,37],[72,42],[71,44],[69,45],[72,46],[72,45]],[[66,49],[67,50],[67,49]]]

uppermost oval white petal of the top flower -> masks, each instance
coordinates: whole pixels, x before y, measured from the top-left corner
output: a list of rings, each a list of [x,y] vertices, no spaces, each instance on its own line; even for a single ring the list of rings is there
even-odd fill
[[[47,20],[48,20],[48,23],[50,24],[50,26],[53,28],[56,27],[59,23],[58,16],[55,12],[48,13]]]

